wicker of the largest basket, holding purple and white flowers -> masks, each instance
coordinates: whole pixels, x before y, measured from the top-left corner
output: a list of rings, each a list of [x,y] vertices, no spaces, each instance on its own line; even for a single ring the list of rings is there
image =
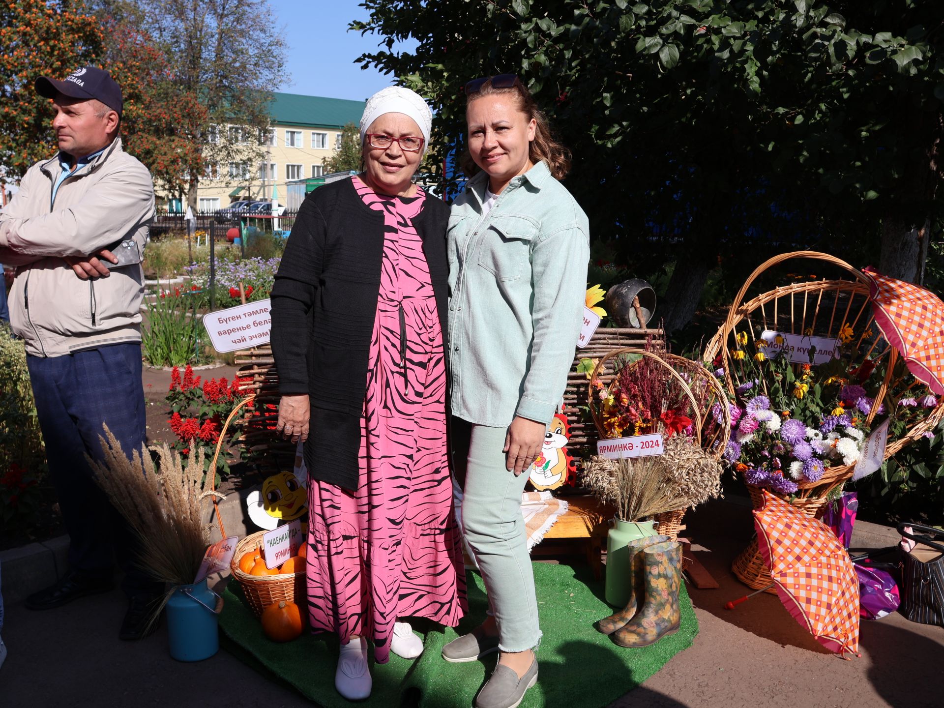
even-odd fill
[[[838,277],[795,282],[746,299],[751,286],[755,286],[755,283],[769,275],[769,271],[784,261],[793,259],[819,261],[820,266],[838,271]],[[875,396],[876,401],[881,401],[890,383],[899,352],[888,344],[881,329],[875,325],[868,286],[866,275],[846,261],[825,253],[796,251],[775,256],[758,266],[734,297],[725,322],[705,348],[703,361],[709,366],[720,363],[724,367],[725,385],[733,396],[736,386],[743,383],[738,379],[737,367],[732,365],[731,354],[736,348],[736,338],[739,334],[746,334],[751,344],[756,341],[758,328],[835,338],[839,330],[848,325],[853,333],[851,341],[855,343],[853,364],[860,364],[867,359],[880,360],[888,357],[887,375]],[[799,368],[801,364],[795,366]],[[878,406],[873,406],[868,413],[868,424],[871,424],[877,411]],[[923,419],[906,430],[902,437],[888,441],[885,459],[917,440],[925,432],[933,430],[942,417],[944,398],[935,408],[930,409]],[[804,514],[821,515],[830,491],[851,479],[854,466],[845,464],[829,467],[820,480],[799,482],[800,490],[789,501]],[[762,496],[757,490],[750,487],[749,490],[755,508],[759,508]],[[734,574],[750,587],[761,588],[770,583],[756,541],[734,561],[733,570]]]

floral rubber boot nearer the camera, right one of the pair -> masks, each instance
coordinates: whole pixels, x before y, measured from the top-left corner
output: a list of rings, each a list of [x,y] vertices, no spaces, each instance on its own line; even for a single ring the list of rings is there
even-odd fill
[[[620,647],[648,647],[666,634],[678,632],[682,618],[679,590],[682,586],[682,544],[674,541],[643,548],[646,596],[632,620],[611,636]]]

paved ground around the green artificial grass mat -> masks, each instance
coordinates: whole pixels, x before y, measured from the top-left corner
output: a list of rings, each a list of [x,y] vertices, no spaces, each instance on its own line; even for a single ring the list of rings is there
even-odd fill
[[[733,612],[722,609],[725,600],[745,594],[728,570],[750,536],[750,510],[735,501],[715,502],[687,518],[702,563],[721,583],[717,590],[689,588],[700,622],[695,645],[614,708],[942,704],[942,628],[913,624],[900,615],[863,621],[862,657],[842,661],[806,634],[773,596],[761,595]],[[880,548],[895,540],[893,531],[870,524],[856,531],[855,546]],[[199,664],[175,662],[163,628],[143,642],[119,642],[123,610],[117,592],[45,613],[31,613],[19,602],[9,605],[3,632],[9,657],[0,669],[0,706],[311,705],[226,651]],[[596,708],[589,698],[582,705]]]

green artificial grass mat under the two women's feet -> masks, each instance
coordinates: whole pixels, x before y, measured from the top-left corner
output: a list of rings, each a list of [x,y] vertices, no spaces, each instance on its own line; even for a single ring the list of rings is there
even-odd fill
[[[537,652],[538,683],[528,691],[521,708],[605,706],[632,691],[675,654],[690,647],[699,632],[683,583],[679,632],[643,649],[617,647],[593,628],[596,620],[610,615],[613,609],[603,601],[603,583],[593,579],[588,567],[548,563],[533,566],[544,638]],[[388,664],[375,664],[370,649],[374,689],[370,699],[359,704],[384,708],[470,708],[491,675],[497,654],[480,662],[449,664],[440,652],[444,645],[484,619],[488,603],[483,587],[480,575],[469,572],[469,613],[455,629],[444,631],[425,620],[411,621],[413,630],[425,636],[426,648],[417,659],[401,659],[391,654]],[[304,634],[293,642],[272,642],[262,633],[261,623],[246,604],[238,583],[229,583],[223,597],[220,628],[228,650],[266,676],[294,686],[323,708],[349,708],[350,701],[334,689],[337,636]]]

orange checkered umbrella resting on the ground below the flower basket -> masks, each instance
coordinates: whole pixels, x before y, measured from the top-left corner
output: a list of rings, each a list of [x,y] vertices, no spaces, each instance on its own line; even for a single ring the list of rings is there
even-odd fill
[[[859,648],[859,579],[846,548],[822,521],[765,490],[754,510],[761,553],[784,607],[826,649]]]

